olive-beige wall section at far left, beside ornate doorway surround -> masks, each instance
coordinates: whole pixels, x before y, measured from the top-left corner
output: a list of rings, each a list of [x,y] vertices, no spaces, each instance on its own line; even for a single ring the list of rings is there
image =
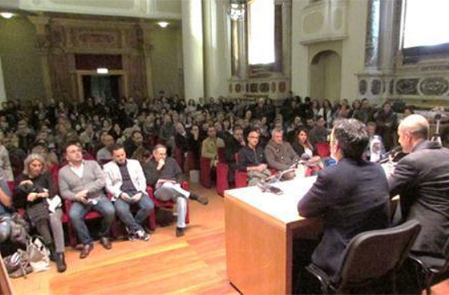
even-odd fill
[[[0,18],[0,56],[10,100],[41,100],[45,96],[34,32],[34,25],[24,18]]]

